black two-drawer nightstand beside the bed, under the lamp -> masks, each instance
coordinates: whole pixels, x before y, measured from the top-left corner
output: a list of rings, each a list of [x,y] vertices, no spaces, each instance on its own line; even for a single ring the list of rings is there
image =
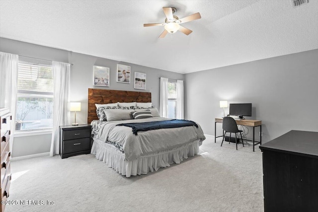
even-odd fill
[[[89,154],[91,125],[60,126],[60,155],[67,158],[78,154]]]

